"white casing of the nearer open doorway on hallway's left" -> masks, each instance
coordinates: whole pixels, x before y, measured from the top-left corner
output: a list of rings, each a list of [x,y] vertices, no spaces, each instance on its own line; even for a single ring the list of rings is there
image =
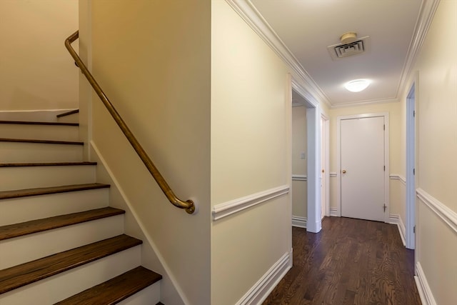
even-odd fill
[[[306,101],[307,216],[306,231],[318,233],[321,224],[321,107],[311,94],[292,79],[292,88]]]

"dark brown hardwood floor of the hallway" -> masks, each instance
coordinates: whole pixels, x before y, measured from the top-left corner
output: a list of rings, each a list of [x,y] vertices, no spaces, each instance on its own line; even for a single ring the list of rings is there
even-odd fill
[[[293,267],[263,305],[421,304],[396,225],[326,217],[322,227],[293,228]]]

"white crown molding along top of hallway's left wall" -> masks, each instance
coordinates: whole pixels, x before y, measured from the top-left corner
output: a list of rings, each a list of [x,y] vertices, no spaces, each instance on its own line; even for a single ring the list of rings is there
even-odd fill
[[[260,36],[261,39],[281,57],[284,63],[291,68],[293,74],[300,80],[301,86],[306,89],[306,92],[300,92],[306,100],[311,103],[314,102],[313,104],[318,104],[319,101],[323,101],[329,107],[332,106],[328,97],[323,93],[311,76],[309,76],[308,72],[303,69],[303,66],[301,66],[296,57],[279,38],[278,34],[271,28],[268,22],[266,22],[251,1],[226,0],[226,2],[249,26],[251,26],[253,31],[255,31],[256,34],[258,34],[258,36]]]

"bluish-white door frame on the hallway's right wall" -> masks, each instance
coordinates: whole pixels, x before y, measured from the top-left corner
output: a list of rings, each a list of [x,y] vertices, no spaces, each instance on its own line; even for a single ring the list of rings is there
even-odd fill
[[[416,81],[406,97],[406,248],[416,246]]]

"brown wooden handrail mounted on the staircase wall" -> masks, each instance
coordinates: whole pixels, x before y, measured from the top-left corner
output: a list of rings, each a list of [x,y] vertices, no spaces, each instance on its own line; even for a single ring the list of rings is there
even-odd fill
[[[109,113],[113,117],[114,121],[116,121],[116,124],[119,125],[119,128],[121,128],[121,131],[125,134],[126,138],[129,140],[131,146],[135,149],[136,154],[140,157],[141,161],[143,161],[144,165],[146,168],[149,170],[151,175],[154,177],[156,180],[157,184],[159,184],[159,187],[161,190],[164,192],[165,196],[171,204],[174,206],[178,207],[179,209],[185,209],[187,213],[192,214],[195,211],[195,204],[194,201],[191,201],[190,199],[187,201],[182,201],[176,195],[174,192],[171,190],[169,184],[166,183],[164,177],[160,174],[159,170],[156,168],[154,163],[152,163],[151,159],[149,158],[148,154],[146,154],[146,151],[144,151],[143,147],[139,144],[139,141],[136,140],[134,134],[131,133],[129,127],[126,125],[124,120],[121,118],[119,113],[114,109],[113,104],[111,104],[111,101],[109,101],[108,97],[104,93],[104,91],[101,89],[99,84],[97,84],[96,80],[94,79],[94,76],[92,76],[91,72],[89,72],[89,69],[87,69],[86,65],[84,65],[83,61],[79,57],[78,54],[76,54],[76,51],[74,51],[73,47],[71,46],[71,43],[74,42],[76,39],[79,38],[79,31],[74,32],[74,34],[71,34],[69,38],[65,39],[65,46],[66,49],[69,50],[71,57],[73,57],[76,66],[81,69],[81,72],[86,76],[86,79],[89,81],[89,84],[91,84],[92,88],[94,88],[96,94],[100,97],[101,101],[103,104],[106,106],[106,109],[108,109]]]

